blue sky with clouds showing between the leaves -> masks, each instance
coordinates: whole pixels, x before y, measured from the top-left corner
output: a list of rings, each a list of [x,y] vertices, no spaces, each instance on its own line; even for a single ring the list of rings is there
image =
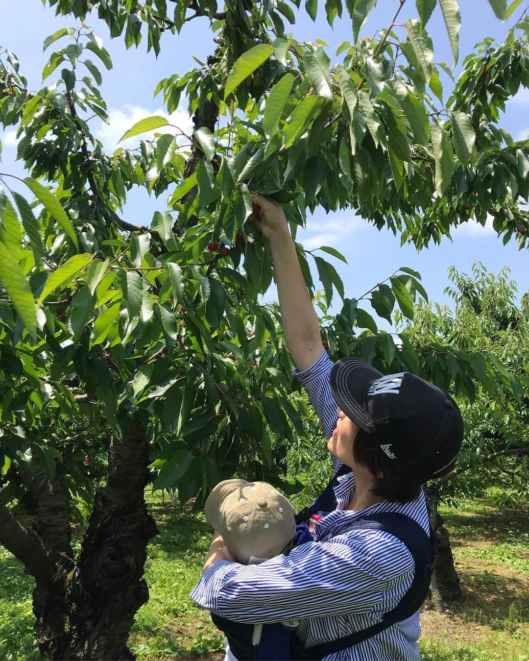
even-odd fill
[[[509,24],[495,18],[486,0],[463,0],[461,5],[460,63],[477,41],[492,36],[501,43],[509,28]],[[337,19],[332,30],[324,19],[324,3],[319,3],[319,6],[320,15],[316,23],[299,13],[293,33],[299,40],[323,39],[330,46],[326,50],[331,60],[335,61],[337,44],[344,40],[352,41],[351,25],[349,20]],[[361,34],[373,34],[376,29],[388,26],[397,6],[398,0],[379,0]],[[522,9],[523,5],[513,15],[510,24]],[[399,20],[414,15],[415,3],[408,0]],[[53,50],[52,46],[43,54],[42,42],[62,26],[77,26],[75,20],[55,17],[53,9],[43,7],[40,0],[0,0],[0,16],[0,44],[17,54],[20,70],[28,79],[30,89],[40,89],[42,68],[48,59],[46,56],[49,57]],[[101,89],[109,108],[110,126],[105,126],[100,120],[94,120],[92,124],[94,134],[102,139],[108,151],[113,151],[119,137],[137,120],[152,114],[166,114],[160,97],[153,100],[158,81],[195,67],[192,56],[203,61],[213,52],[215,44],[211,40],[207,19],[195,19],[184,26],[180,36],[172,36],[169,32],[162,35],[162,51],[156,59],[153,52],[146,53],[146,42],[142,42],[138,50],[132,48],[127,51],[121,38],[110,40],[108,28],[96,17],[88,17],[86,22],[103,39],[114,62],[112,71],[102,69],[104,81]],[[429,21],[428,30],[435,46],[435,61],[444,60],[451,64],[450,47],[439,7]],[[456,72],[460,68],[459,64]],[[442,81],[447,98],[451,81],[445,75]],[[528,110],[529,90],[524,89],[509,102],[502,120],[502,126],[511,132],[514,139],[522,139],[529,134]],[[190,128],[190,118],[183,104],[172,121],[184,130]],[[14,132],[0,134],[0,139],[3,142],[1,171],[20,175],[20,164],[15,162]],[[148,224],[156,210],[165,210],[164,204],[163,196],[156,200],[149,198],[144,190],[138,190],[131,194],[123,217],[131,223]],[[300,231],[297,238],[307,249],[331,245],[345,255],[347,265],[334,258],[330,260],[343,279],[349,297],[360,296],[400,266],[410,266],[421,273],[432,300],[450,303],[443,293],[448,284],[446,269],[454,264],[470,273],[474,260],[481,260],[493,272],[499,272],[507,264],[520,292],[529,290],[527,252],[520,253],[515,241],[503,246],[488,224],[483,228],[476,223],[467,223],[454,231],[453,242],[444,240],[441,246],[432,245],[417,253],[411,246],[400,247],[400,237],[394,237],[387,230],[374,229],[351,211],[326,215],[324,210],[320,210],[308,219],[306,229]],[[323,256],[323,253],[320,254]],[[275,298],[273,288],[269,297]],[[384,327],[384,324],[381,325]]]

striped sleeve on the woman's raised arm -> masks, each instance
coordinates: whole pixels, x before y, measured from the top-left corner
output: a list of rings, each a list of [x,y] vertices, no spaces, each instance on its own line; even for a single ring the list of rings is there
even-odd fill
[[[337,405],[331,392],[330,373],[334,363],[326,351],[310,368],[294,370],[294,375],[308,393],[310,403],[316,411],[326,438],[332,436],[338,419]],[[332,457],[335,465],[339,462]]]

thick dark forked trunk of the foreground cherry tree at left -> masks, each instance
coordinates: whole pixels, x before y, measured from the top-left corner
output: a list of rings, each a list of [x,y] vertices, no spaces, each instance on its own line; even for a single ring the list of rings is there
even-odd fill
[[[50,659],[135,658],[127,639],[135,613],[149,599],[143,570],[147,544],[158,532],[143,497],[148,464],[145,428],[134,422],[111,441],[107,484],[96,495],[75,561],[59,483],[22,471],[38,502],[31,528],[0,504],[0,543],[36,578],[36,640]]]

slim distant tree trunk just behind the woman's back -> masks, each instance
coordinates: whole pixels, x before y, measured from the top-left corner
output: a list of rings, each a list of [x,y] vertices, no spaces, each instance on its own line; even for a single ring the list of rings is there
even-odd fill
[[[430,586],[433,602],[437,610],[444,610],[443,602],[457,602],[462,599],[459,576],[454,567],[454,556],[450,548],[448,530],[444,527],[439,506],[439,489],[435,485],[425,486],[430,525],[437,541],[435,573]]]

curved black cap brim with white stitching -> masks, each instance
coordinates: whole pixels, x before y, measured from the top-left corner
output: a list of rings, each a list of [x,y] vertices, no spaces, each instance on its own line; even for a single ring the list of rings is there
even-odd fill
[[[372,432],[367,420],[363,401],[374,379],[383,376],[369,363],[360,358],[341,358],[331,370],[331,391],[335,402],[348,418],[364,429]]]

